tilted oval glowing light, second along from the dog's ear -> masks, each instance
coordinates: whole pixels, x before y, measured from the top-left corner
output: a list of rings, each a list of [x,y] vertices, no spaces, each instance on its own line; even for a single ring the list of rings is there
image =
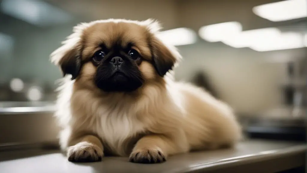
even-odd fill
[[[219,42],[225,38],[237,35],[242,31],[242,25],[239,22],[224,22],[208,26],[202,26],[198,34],[200,38],[208,42]]]

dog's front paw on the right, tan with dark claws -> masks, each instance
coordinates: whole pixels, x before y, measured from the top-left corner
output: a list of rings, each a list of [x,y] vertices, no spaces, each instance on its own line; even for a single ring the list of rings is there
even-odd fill
[[[133,163],[161,163],[166,161],[165,156],[158,149],[140,149],[133,151],[129,159]]]

